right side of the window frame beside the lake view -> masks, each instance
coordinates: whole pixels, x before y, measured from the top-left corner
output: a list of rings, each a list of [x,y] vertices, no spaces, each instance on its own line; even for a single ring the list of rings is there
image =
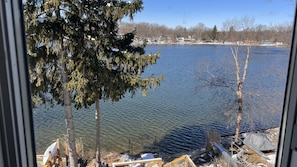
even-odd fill
[[[297,4],[295,4],[294,26],[284,98],[275,165],[293,167],[297,166]]]

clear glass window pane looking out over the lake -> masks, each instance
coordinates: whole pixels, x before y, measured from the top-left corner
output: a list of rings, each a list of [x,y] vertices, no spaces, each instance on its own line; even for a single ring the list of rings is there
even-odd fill
[[[56,139],[60,139],[61,156],[65,157],[64,144],[69,134],[64,111],[70,108],[74,136],[80,141],[77,149],[83,145],[77,151],[78,157],[95,157],[98,115],[93,97],[97,96],[101,158],[150,152],[169,162],[183,154],[204,152],[206,141],[219,143],[218,137],[232,137],[230,140],[240,146],[236,151],[239,155],[241,140],[250,146],[242,135],[246,132],[264,132],[277,145],[294,1],[144,0],[143,10],[135,13],[133,21],[128,16],[118,19],[121,13],[115,7],[117,2],[71,3],[75,7],[64,1],[40,1],[33,5],[36,8],[26,2],[24,7],[32,96],[36,102],[36,151],[41,157]],[[116,20],[116,24],[109,19]],[[118,30],[116,35],[107,33],[114,29]],[[124,40],[119,38],[129,38],[125,34],[131,32],[135,32],[131,46],[145,43],[147,54],[160,52],[159,58],[150,61],[152,66],[135,68],[133,65],[139,62],[121,57],[124,51],[132,52],[132,47],[122,47]],[[117,40],[123,43],[114,42]],[[98,71],[93,66],[98,66]],[[116,76],[112,72],[120,69],[122,73],[138,70],[142,78],[153,75],[164,79],[155,85],[129,85],[135,86],[131,90],[123,88],[127,86],[122,85],[125,81],[112,78]],[[116,74],[124,77],[122,73]],[[130,84],[134,83],[129,79]],[[64,90],[62,85],[67,85]],[[63,106],[67,104],[62,93],[65,91],[70,93],[68,107]],[[226,150],[231,147],[230,142],[220,144]],[[273,164],[275,152],[271,150],[275,149],[264,149],[272,155],[271,161],[257,163]],[[212,162],[212,156],[207,155],[203,158],[197,154],[192,159],[196,165]],[[112,162],[102,161],[109,165]]]

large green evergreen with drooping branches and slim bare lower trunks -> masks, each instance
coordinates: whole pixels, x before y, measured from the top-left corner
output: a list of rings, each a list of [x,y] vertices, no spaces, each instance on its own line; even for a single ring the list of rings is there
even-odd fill
[[[72,103],[81,108],[96,102],[99,138],[99,99],[118,101],[125,92],[133,95],[139,88],[146,95],[162,80],[141,77],[159,54],[145,55],[145,45],[132,45],[134,32],[118,34],[118,22],[125,16],[133,19],[142,8],[141,0],[29,0],[24,4],[32,98],[64,105],[70,166],[77,164]],[[96,147],[99,162],[100,142]]]

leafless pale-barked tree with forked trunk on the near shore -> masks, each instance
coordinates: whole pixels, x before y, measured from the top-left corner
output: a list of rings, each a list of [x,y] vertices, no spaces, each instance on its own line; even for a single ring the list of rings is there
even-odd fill
[[[225,57],[219,56],[225,59],[206,57],[200,60],[197,90],[201,98],[212,101],[212,107],[226,116],[226,120],[231,121],[229,123],[235,123],[234,138],[238,142],[243,126],[254,129],[254,124],[264,119],[266,122],[276,121],[265,116],[267,112],[281,111],[282,102],[279,99],[282,99],[283,92],[279,88],[284,85],[285,74],[277,66],[278,60],[267,63],[266,59],[271,59],[271,55],[252,56],[250,46],[235,46],[231,48],[231,57],[227,48],[220,48],[220,52],[229,52]],[[233,60],[230,61],[230,58]],[[255,64],[259,65],[258,68]]]

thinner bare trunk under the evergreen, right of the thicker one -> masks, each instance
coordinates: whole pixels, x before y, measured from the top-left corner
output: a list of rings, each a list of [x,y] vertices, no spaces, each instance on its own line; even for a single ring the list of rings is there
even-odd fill
[[[100,111],[99,111],[99,99],[96,100],[96,167],[100,166]]]

